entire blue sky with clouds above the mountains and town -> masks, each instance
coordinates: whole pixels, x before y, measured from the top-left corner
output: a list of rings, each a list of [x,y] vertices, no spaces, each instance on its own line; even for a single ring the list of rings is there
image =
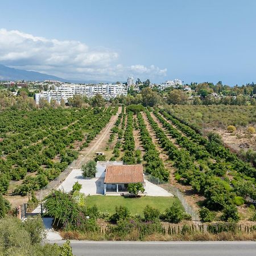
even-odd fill
[[[65,79],[256,82],[254,0],[1,1],[0,64]]]

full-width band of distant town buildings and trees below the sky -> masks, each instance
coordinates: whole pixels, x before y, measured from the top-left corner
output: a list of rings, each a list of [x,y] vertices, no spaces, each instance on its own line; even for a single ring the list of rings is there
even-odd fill
[[[223,85],[221,81],[215,85],[212,82],[184,84],[180,79],[152,83],[149,79],[146,79],[146,81],[137,79],[135,81],[134,77],[130,76],[126,82],[117,81],[115,83],[98,84],[74,84],[57,80],[0,81],[0,88],[9,90],[14,96],[18,96],[22,90],[25,90],[30,98],[34,98],[36,105],[44,104],[43,102],[70,105],[69,101],[72,101],[74,96],[79,96],[87,101],[92,100],[96,95],[101,96],[102,100],[112,101],[117,99],[119,102],[122,102],[122,100],[120,101],[121,97],[130,97],[131,102],[138,104],[141,99],[135,96],[146,93],[143,90],[145,88],[154,92],[153,98],[156,102],[159,101],[159,98],[156,99],[158,94],[162,100],[167,100],[168,104],[256,104],[256,85],[253,82],[242,86]]]

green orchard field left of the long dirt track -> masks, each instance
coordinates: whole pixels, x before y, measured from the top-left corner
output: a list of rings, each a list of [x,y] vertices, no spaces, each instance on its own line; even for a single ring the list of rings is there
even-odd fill
[[[77,159],[117,109],[1,112],[0,193],[25,196],[46,187]]]

